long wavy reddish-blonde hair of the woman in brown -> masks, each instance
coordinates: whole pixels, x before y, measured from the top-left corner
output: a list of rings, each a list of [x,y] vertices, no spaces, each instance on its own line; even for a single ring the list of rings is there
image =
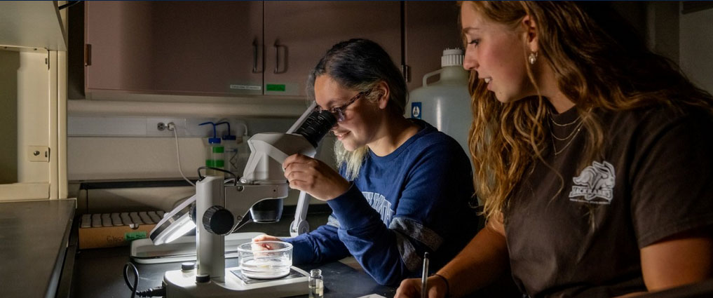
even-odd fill
[[[580,168],[600,157],[604,140],[595,111],[647,106],[697,106],[713,113],[713,98],[694,86],[669,59],[652,53],[635,30],[608,5],[573,1],[471,1],[488,21],[518,30],[525,16],[535,22],[540,57],[555,73],[557,86],[575,108],[587,132]],[[529,53],[523,43],[523,56]],[[527,61],[527,59],[523,59]],[[525,63],[537,89],[533,71]],[[545,128],[550,106],[543,96],[499,102],[471,71],[473,123],[468,147],[473,183],[486,217],[498,215],[535,160],[548,147]],[[539,91],[538,91],[539,93]],[[544,160],[543,160],[544,161]],[[560,175],[562,183],[562,177]],[[560,190],[561,191],[561,190]]]

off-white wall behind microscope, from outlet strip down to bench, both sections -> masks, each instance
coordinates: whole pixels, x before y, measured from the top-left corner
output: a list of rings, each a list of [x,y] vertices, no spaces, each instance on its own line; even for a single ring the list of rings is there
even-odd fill
[[[183,173],[195,180],[196,169],[205,165],[206,138],[212,125],[206,120],[229,120],[232,133],[242,135],[245,123],[249,135],[284,132],[292,118],[209,119],[160,117],[70,116],[68,118],[67,165],[70,195],[78,197],[80,212],[112,210],[170,210],[169,207],[192,192],[190,187],[145,187],[92,190],[87,199],[79,191],[82,181],[180,180],[173,132],[160,131],[158,122],[177,125]],[[217,130],[219,136],[225,126]],[[334,165],[334,135],[327,135],[317,150],[317,158]],[[170,190],[169,190],[170,189]],[[188,190],[188,192],[186,192]],[[290,190],[285,205],[296,205],[299,192]],[[322,203],[312,198],[312,204]]]

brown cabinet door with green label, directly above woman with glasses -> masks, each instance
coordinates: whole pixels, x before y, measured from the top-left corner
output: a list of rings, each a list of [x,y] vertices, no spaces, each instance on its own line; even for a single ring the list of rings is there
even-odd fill
[[[307,75],[335,43],[368,38],[401,64],[398,1],[265,1],[265,94],[304,96]]]

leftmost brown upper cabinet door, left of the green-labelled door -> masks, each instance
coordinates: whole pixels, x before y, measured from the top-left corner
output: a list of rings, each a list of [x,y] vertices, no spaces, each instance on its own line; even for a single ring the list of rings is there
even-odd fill
[[[88,92],[262,94],[262,2],[85,5]]]

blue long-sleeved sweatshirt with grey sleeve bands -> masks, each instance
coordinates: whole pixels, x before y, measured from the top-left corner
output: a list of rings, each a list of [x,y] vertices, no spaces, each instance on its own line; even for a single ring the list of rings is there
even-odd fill
[[[416,135],[394,152],[369,151],[352,186],[327,201],[327,225],[285,239],[294,264],[353,255],[379,284],[421,276],[452,260],[480,228],[471,163],[456,140],[423,120]],[[344,166],[339,170],[344,176]]]

